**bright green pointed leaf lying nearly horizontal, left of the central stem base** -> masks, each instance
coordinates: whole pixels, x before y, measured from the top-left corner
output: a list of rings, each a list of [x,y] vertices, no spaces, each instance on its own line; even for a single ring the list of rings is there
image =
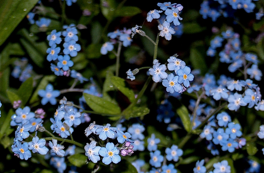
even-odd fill
[[[109,115],[119,115],[121,113],[121,109],[116,103],[87,93],[83,93],[83,96],[87,105],[95,112]]]

